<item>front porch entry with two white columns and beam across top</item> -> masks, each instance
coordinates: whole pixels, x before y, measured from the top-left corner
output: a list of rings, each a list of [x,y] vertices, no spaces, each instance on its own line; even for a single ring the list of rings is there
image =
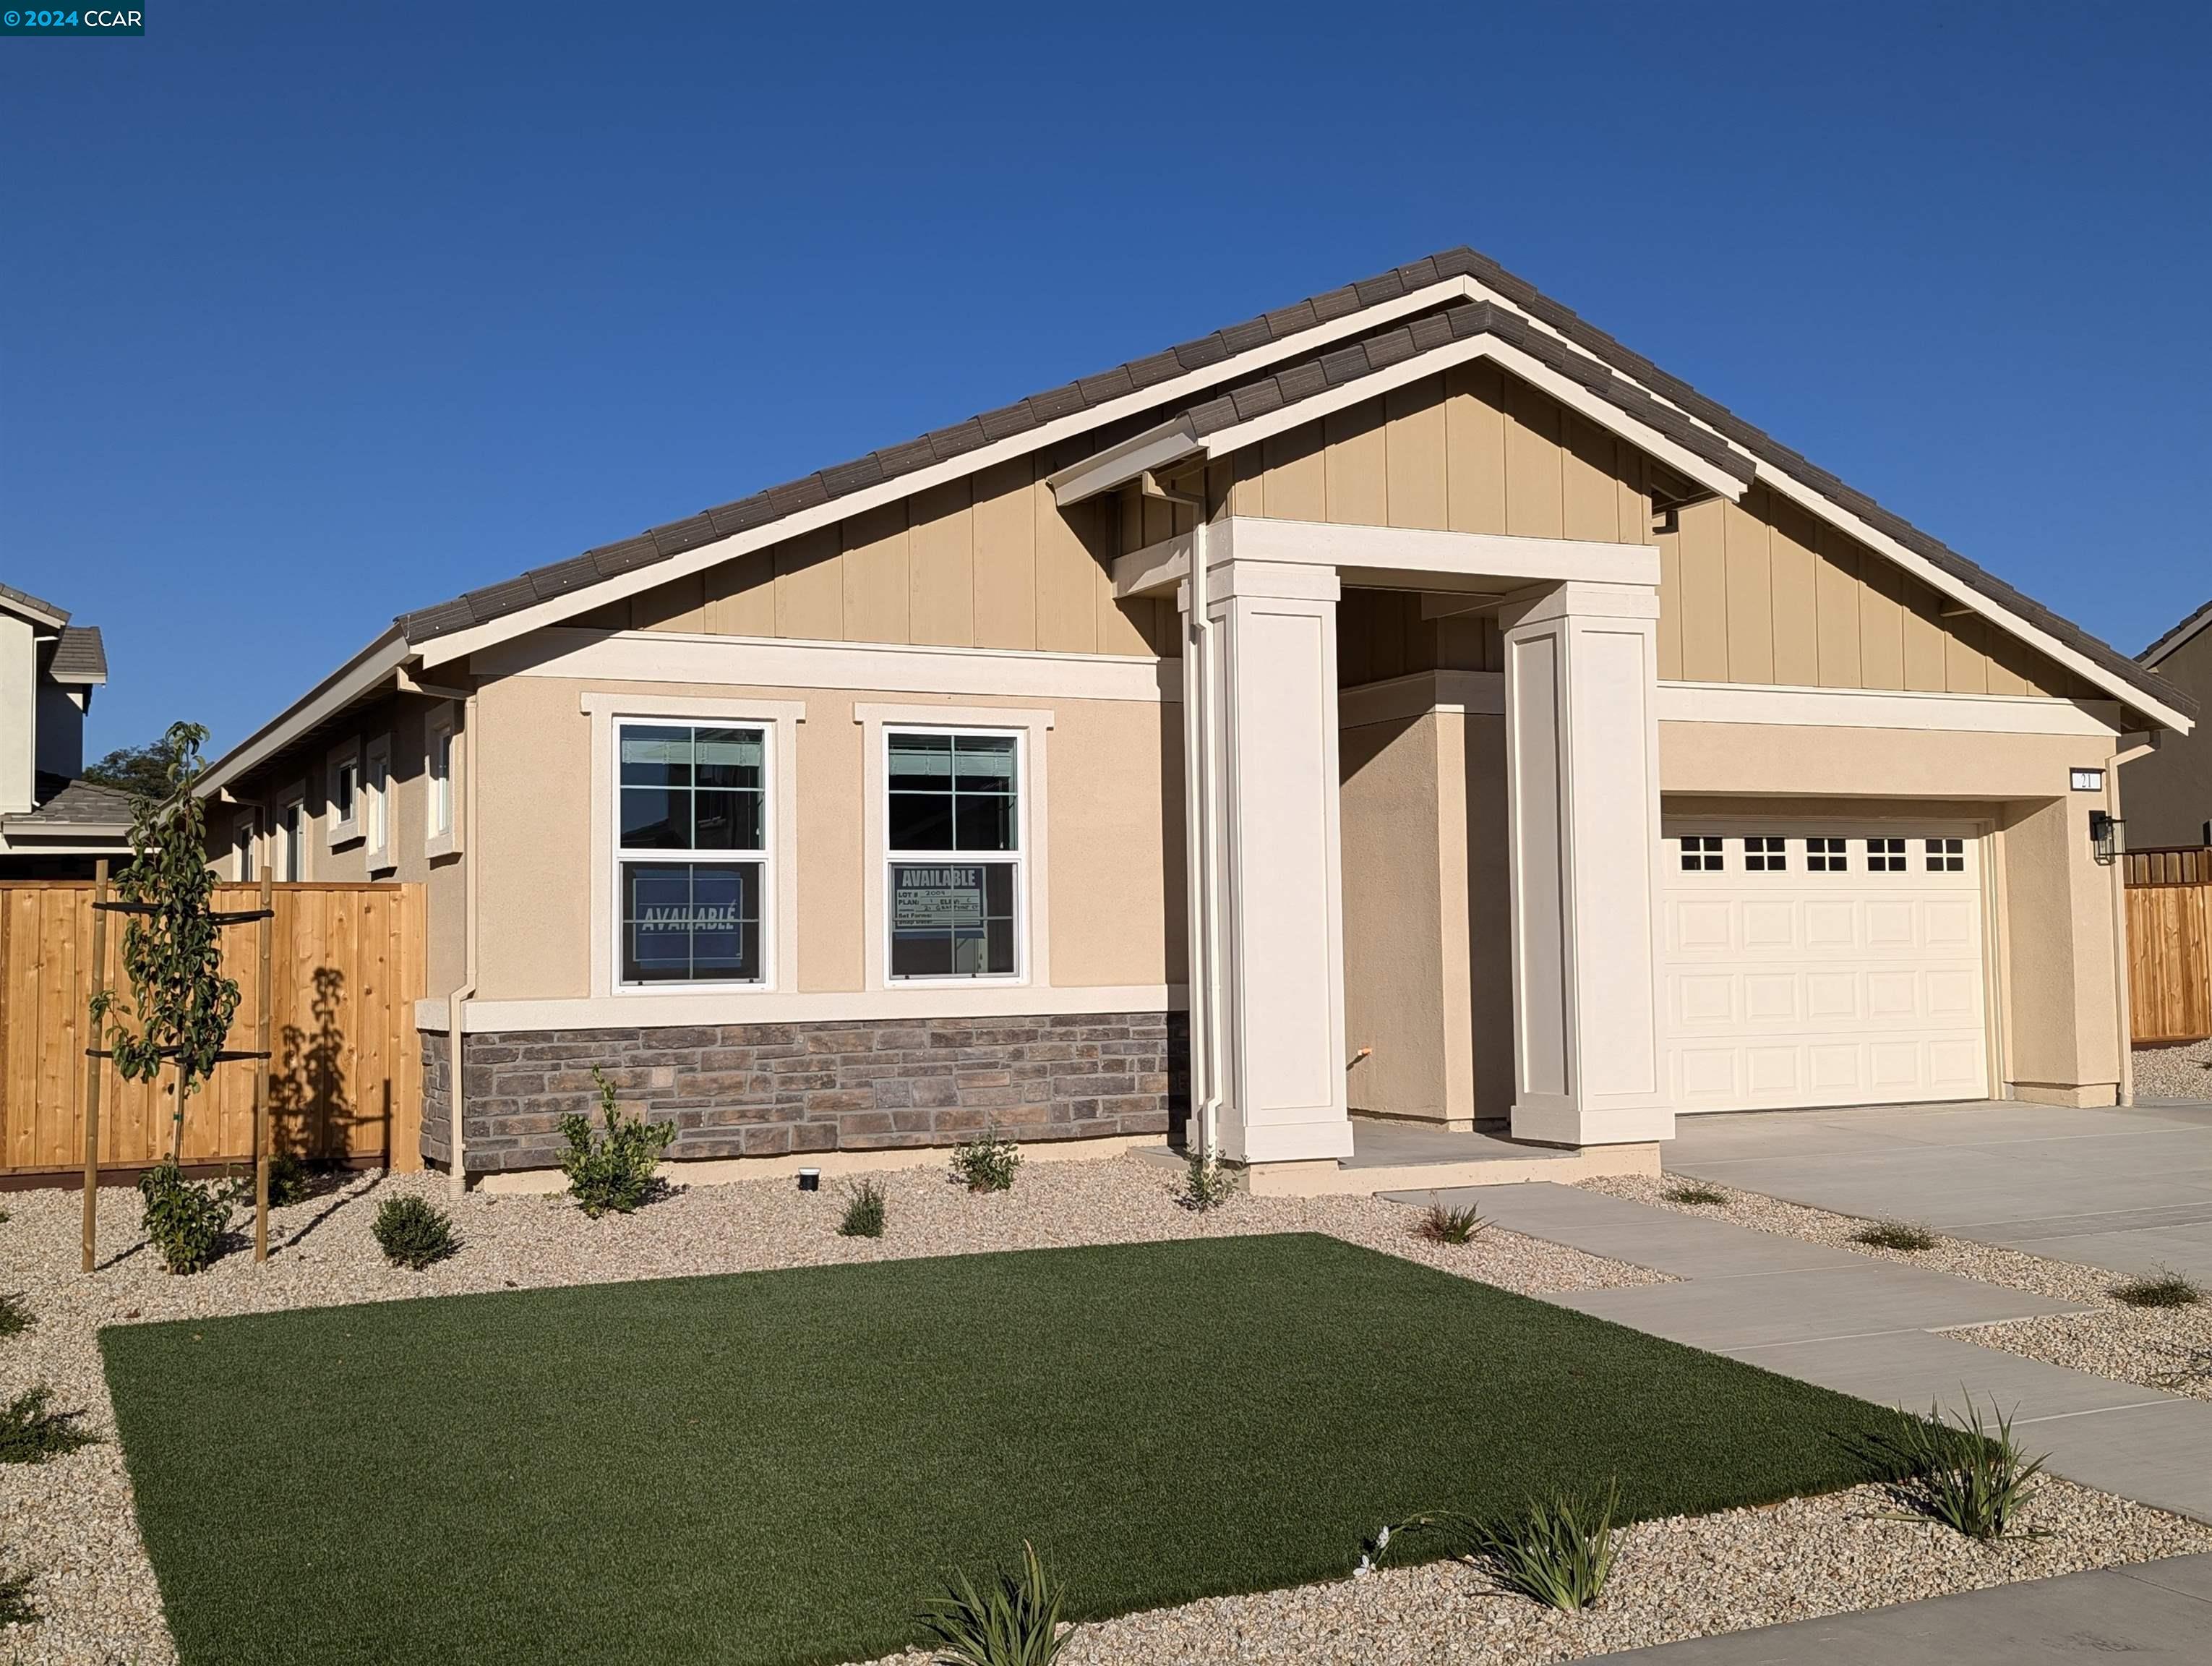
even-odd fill
[[[1223,516],[1115,582],[1183,613],[1192,1144],[1281,1195],[1650,1173],[1657,551]]]

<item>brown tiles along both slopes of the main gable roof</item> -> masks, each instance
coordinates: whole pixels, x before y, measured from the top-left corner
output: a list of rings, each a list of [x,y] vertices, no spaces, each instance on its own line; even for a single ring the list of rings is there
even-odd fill
[[[1646,389],[1681,412],[1688,412],[1699,423],[1719,431],[1734,445],[1750,451],[1761,462],[1783,469],[1796,476],[1803,485],[1812,487],[1832,502],[1849,509],[1854,516],[1865,520],[1869,527],[1887,533],[1896,542],[1905,544],[1913,553],[1929,560],[1940,571],[1960,580],[1962,584],[1980,591],[2000,606],[2013,611],[2022,619],[2031,622],[2039,631],[2046,631],[2055,639],[2064,642],[2075,653],[2101,666],[2112,677],[2121,679],[2130,688],[2157,699],[2163,706],[2179,708],[2183,712],[2197,710],[2197,701],[2183,695],[2179,688],[2168,684],[2154,670],[2137,664],[2128,655],[2119,653],[2110,644],[2093,637],[2081,626],[2053,613],[2042,602],[2024,595],[2004,580],[1986,573],[1984,569],[1969,562],[1964,555],[1953,551],[1949,544],[1920,531],[1902,516],[1893,516],[1878,502],[1867,498],[1863,491],[1854,491],[1843,480],[1832,476],[1827,469],[1816,467],[1812,460],[1792,451],[1781,440],[1772,438],[1763,429],[1745,423],[1741,416],[1728,407],[1705,398],[1688,383],[1659,369],[1650,358],[1615,341],[1610,334],[1597,325],[1584,321],[1571,308],[1559,305],[1533,283],[1513,277],[1498,261],[1486,254],[1478,254],[1471,248],[1453,248],[1442,254],[1429,254],[1427,259],[1413,261],[1411,265],[1398,265],[1378,277],[1365,279],[1363,283],[1347,283],[1340,290],[1327,290],[1325,294],[1307,296],[1287,308],[1265,312],[1259,319],[1248,319],[1245,323],[1230,325],[1228,330],[1217,330],[1210,336],[1199,336],[1197,341],[1186,341],[1179,347],[1152,354],[1148,358],[1133,358],[1126,365],[1115,365],[1097,376],[1084,376],[1079,381],[1053,387],[1044,394],[1031,394],[1013,405],[1002,405],[995,412],[984,412],[982,416],[971,416],[967,423],[956,423],[953,427],[936,429],[905,445],[896,445],[883,451],[869,451],[852,462],[841,462],[830,469],[803,476],[799,480],[787,480],[779,487],[757,491],[750,498],[739,498],[737,502],[719,504],[714,509],[703,509],[686,520],[675,520],[661,527],[648,527],[635,538],[619,540],[615,544],[602,544],[599,549],[588,549],[551,566],[538,566],[520,577],[507,580],[504,584],[491,584],[480,591],[469,591],[449,602],[436,606],[418,608],[414,613],[403,613],[398,617],[398,628],[409,642],[429,642],[431,637],[449,635],[473,624],[484,624],[498,619],[507,613],[518,613],[520,608],[533,606],[535,602],[564,595],[580,586],[593,584],[602,577],[613,577],[617,573],[628,573],[637,566],[650,566],[655,562],[670,560],[684,551],[699,549],[703,544],[730,538],[732,533],[752,531],[754,527],[765,527],[774,520],[792,516],[801,509],[814,504],[832,502],[847,493],[860,491],[885,480],[896,480],[905,473],[931,467],[936,462],[947,462],[951,458],[975,451],[991,445],[998,438],[1011,434],[1026,434],[1031,429],[1044,427],[1051,420],[1068,416],[1073,412],[1095,409],[1106,400],[1121,398],[1124,394],[1141,392],[1155,387],[1172,376],[1186,372],[1203,369],[1206,365],[1221,363],[1232,354],[1261,347],[1270,341],[1283,341],[1285,336],[1312,330],[1321,323],[1363,312],[1365,308],[1380,305],[1385,301],[1396,301],[1400,296],[1413,294],[1427,285],[1469,277],[1495,294],[1504,296],[1511,305],[1551,325],[1566,336],[1584,354],[1604,361],[1610,367],[1610,376],[1601,374],[1601,367],[1593,367],[1579,354],[1571,354],[1557,347],[1557,341],[1544,336],[1544,332],[1526,332],[1528,339],[1546,345],[1548,352],[1559,354],[1557,365],[1562,372],[1577,376],[1593,387],[1613,398],[1613,389],[1621,378],[1632,378]],[[1402,325],[1409,330],[1411,325]],[[1433,327],[1433,325],[1431,325]],[[1380,332],[1369,341],[1389,343],[1398,330]],[[1358,343],[1365,347],[1367,343]],[[1517,343],[1522,345],[1522,343]],[[1332,350],[1332,354],[1345,350]],[[1316,361],[1318,363],[1318,361]],[[1371,363],[1371,361],[1369,361]],[[1285,372],[1274,372],[1281,378]],[[1635,389],[1628,389],[1635,392]],[[1657,400],[1650,407],[1663,409]],[[1644,420],[1650,420],[1648,416]],[[1670,438],[1681,438],[1683,431],[1694,434],[1697,427],[1679,423],[1679,429],[1670,431]],[[1710,445],[1710,436],[1703,436]],[[1723,447],[1725,449],[1725,447]],[[1703,454],[1703,451],[1701,451]],[[1739,458],[1741,465],[1741,458]],[[1736,469],[1741,476],[1741,469]]]

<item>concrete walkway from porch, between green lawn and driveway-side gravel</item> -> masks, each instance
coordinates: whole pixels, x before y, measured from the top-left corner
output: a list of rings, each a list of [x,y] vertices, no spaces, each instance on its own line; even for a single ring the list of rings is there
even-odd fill
[[[1396,1193],[1427,1204],[1429,1193]],[[1670,1272],[1679,1283],[1551,1301],[1783,1376],[1920,1412],[1991,1396],[2051,1469],[2212,1522],[2212,1403],[2115,1383],[1938,1334],[2081,1312],[2024,1290],[1801,1243],[1573,1186],[1442,1193],[1528,1237]],[[2208,1646],[2212,1657],[2212,1646]]]

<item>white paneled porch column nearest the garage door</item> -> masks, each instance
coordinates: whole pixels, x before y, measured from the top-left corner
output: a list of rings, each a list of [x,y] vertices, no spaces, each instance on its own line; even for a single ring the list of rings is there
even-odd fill
[[[1500,611],[1513,1135],[1668,1139],[1659,1051],[1659,591],[1568,582]]]

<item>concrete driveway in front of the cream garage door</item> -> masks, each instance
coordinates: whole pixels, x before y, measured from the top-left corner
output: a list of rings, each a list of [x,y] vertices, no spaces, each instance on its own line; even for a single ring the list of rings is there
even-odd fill
[[[1843,1215],[2212,1285],[2212,1102],[1936,1104],[1679,1117],[1670,1173]]]

